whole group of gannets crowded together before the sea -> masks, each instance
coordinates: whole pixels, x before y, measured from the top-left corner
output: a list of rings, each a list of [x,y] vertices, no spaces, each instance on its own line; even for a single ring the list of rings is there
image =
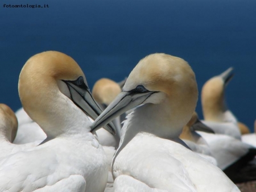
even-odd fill
[[[72,57],[38,53],[20,72],[23,107],[0,104],[0,191],[240,191],[256,180],[256,135],[226,105],[232,77],[205,82],[200,120],[196,75],[179,57],[148,55],[90,93]]]

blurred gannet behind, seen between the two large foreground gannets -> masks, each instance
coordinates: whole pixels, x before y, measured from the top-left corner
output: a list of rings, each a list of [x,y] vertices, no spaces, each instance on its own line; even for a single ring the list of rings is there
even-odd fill
[[[108,78],[101,78],[100,80],[96,81],[96,83],[93,86],[92,89],[92,95],[95,101],[97,101],[102,108],[106,108],[117,95],[121,93],[120,86],[108,79]],[[120,116],[117,116],[113,120],[113,124],[115,125],[115,128],[117,130],[117,135],[112,135],[108,131],[104,129],[99,129],[96,131],[98,140],[100,141],[100,144],[102,145],[106,156],[108,158],[108,165],[109,165],[109,176],[108,176],[108,182],[106,184],[105,192],[113,191],[113,176],[112,176],[112,158],[114,156],[115,151],[118,148],[119,141],[120,141],[120,132],[121,132],[121,122],[120,122]]]

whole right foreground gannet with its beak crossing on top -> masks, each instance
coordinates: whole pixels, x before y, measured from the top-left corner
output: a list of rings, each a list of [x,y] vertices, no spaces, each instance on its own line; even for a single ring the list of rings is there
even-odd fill
[[[195,74],[183,59],[156,53],[139,61],[122,92],[92,125],[101,127],[144,104],[127,116],[122,127],[113,158],[115,191],[129,191],[118,190],[129,176],[129,185],[143,191],[150,191],[146,186],[155,191],[240,191],[217,166],[179,139],[195,111],[197,96]]]

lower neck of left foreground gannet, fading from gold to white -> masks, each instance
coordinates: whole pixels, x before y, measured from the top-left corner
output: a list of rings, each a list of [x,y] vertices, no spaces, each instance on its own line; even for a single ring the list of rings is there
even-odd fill
[[[42,104],[43,105],[43,104]],[[40,104],[38,105],[40,106]],[[69,98],[60,93],[51,102],[35,112],[29,112],[31,119],[43,129],[47,137],[83,135],[90,131],[88,117]]]

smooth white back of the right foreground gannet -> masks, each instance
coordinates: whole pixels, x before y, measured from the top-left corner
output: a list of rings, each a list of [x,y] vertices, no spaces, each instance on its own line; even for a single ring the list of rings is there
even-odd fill
[[[158,189],[239,191],[219,168],[191,150],[148,133],[138,133],[113,166],[115,177],[127,174]]]

